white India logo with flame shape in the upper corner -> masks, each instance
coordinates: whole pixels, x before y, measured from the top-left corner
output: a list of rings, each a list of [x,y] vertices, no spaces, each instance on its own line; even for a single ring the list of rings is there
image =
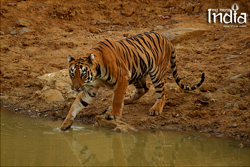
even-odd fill
[[[234,3],[231,9],[208,9],[208,22],[216,23],[219,19],[220,23],[226,24],[224,27],[246,27],[247,14],[238,14],[237,10],[239,10],[237,3]]]

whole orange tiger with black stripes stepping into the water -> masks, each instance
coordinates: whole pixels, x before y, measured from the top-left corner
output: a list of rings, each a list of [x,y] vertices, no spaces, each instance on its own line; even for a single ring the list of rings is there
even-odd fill
[[[157,100],[149,109],[150,116],[162,113],[166,91],[164,90],[168,62],[171,63],[173,77],[183,90],[197,89],[205,79],[193,86],[182,84],[177,74],[176,52],[173,44],[155,32],[145,32],[119,41],[104,39],[94,45],[78,59],[67,57],[72,89],[79,92],[60,129],[65,131],[73,124],[76,115],[87,107],[100,87],[114,91],[111,110],[105,119],[121,119],[123,106],[140,99],[149,91],[146,77],[149,75],[155,87]],[[135,86],[135,93],[124,100],[128,85]]]

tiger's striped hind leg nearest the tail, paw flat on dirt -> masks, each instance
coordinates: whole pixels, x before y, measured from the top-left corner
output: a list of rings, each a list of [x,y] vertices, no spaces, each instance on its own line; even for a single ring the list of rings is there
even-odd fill
[[[152,80],[152,82],[155,87],[157,100],[155,104],[153,105],[153,107],[149,109],[149,115],[151,116],[161,115],[163,107],[165,105],[165,100],[166,100],[166,93],[164,91],[164,81],[157,81],[157,79],[155,79],[155,81]]]

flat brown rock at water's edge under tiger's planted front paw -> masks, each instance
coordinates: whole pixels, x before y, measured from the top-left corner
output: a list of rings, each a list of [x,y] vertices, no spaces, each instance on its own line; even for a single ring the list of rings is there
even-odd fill
[[[106,128],[112,128],[114,131],[117,132],[137,131],[135,128],[121,120],[107,120],[105,119],[104,115],[97,115],[95,117],[95,125],[99,125]]]

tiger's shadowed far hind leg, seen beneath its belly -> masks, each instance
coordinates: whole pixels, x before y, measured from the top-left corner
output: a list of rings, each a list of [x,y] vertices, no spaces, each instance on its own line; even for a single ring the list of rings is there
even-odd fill
[[[125,105],[133,103],[135,100],[138,100],[145,93],[149,91],[149,88],[147,87],[147,84],[146,84],[146,78],[143,78],[141,81],[136,82],[134,86],[136,88],[135,93],[129,99],[124,100]]]

